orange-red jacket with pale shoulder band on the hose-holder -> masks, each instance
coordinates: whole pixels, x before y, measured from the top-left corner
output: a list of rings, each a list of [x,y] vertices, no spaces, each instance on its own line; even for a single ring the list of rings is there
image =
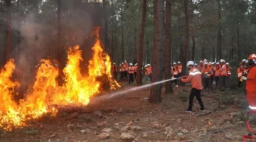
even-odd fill
[[[191,82],[192,88],[203,89],[201,72],[196,68],[191,68],[188,78],[181,79],[182,82]]]

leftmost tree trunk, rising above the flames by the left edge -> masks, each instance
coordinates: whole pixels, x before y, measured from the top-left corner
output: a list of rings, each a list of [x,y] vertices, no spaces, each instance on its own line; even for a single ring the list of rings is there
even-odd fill
[[[6,6],[6,49],[4,62],[9,60],[11,50],[11,0],[6,0]]]

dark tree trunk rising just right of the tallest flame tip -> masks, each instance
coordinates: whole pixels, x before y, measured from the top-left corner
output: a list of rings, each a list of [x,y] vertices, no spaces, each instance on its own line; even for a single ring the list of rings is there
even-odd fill
[[[110,47],[109,47],[109,38],[108,38],[108,27],[107,27],[107,9],[106,9],[106,1],[107,0],[102,0],[103,3],[103,11],[104,11],[104,34],[105,34],[105,51],[109,52]]]

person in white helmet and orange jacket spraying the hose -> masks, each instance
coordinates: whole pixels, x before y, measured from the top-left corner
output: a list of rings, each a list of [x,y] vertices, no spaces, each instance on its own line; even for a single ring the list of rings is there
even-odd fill
[[[198,69],[193,67],[194,63],[193,61],[188,61],[187,67],[188,70],[190,70],[190,73],[188,77],[183,77],[181,79],[181,82],[191,82],[191,94],[189,96],[189,105],[188,109],[186,109],[184,112],[191,113],[192,112],[192,107],[193,107],[193,98],[196,96],[196,99],[198,100],[201,109],[200,111],[206,111],[203,106],[203,101],[201,99],[201,90],[203,89],[202,87],[202,77],[201,77],[201,72],[199,72]]]

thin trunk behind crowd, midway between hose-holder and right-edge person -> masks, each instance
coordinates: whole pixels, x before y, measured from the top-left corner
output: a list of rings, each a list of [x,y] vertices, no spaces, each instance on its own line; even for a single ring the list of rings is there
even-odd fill
[[[222,49],[221,49],[221,30],[222,30],[222,27],[221,27],[221,0],[218,0],[218,22],[219,22],[219,25],[218,25],[218,60],[220,60],[222,58]]]

